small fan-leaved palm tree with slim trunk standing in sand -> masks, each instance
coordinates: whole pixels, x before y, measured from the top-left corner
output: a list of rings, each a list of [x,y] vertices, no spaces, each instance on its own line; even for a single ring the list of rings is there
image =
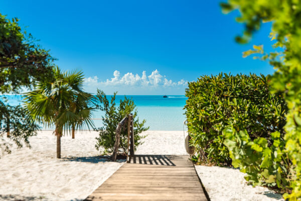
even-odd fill
[[[84,125],[93,127],[89,106],[94,97],[83,91],[82,72],[61,72],[58,67],[53,68],[53,72],[50,80],[39,82],[35,90],[25,94],[25,106],[37,121],[55,126],[57,158],[61,158],[63,131],[66,133],[72,127],[79,129]]]

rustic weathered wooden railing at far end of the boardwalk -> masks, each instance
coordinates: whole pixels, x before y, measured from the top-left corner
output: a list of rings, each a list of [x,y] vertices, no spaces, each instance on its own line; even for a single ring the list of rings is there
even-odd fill
[[[127,152],[126,152],[126,162],[130,162],[130,156],[134,156],[134,124],[133,115],[129,114],[127,117],[123,118],[116,128],[115,134],[115,144],[114,151],[112,155],[112,161],[116,161],[117,152],[120,144],[120,133],[122,130],[127,128]]]

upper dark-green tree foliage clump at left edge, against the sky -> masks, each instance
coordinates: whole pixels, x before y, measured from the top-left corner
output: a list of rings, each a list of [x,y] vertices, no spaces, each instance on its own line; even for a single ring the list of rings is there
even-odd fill
[[[18,92],[52,73],[49,51],[35,43],[31,34],[21,30],[18,19],[0,14],[0,91]]]

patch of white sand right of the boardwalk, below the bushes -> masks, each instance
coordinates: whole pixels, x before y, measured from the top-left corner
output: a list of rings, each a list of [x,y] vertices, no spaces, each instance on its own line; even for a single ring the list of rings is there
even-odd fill
[[[244,173],[238,169],[196,165],[211,201],[275,201],[283,200],[266,187],[247,185]]]

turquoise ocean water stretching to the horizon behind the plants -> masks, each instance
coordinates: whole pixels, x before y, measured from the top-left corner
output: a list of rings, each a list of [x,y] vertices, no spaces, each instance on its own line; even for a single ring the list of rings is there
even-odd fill
[[[10,105],[22,105],[22,95],[1,95],[0,97],[5,97]],[[145,119],[145,126],[149,126],[149,130],[187,130],[183,124],[186,120],[184,106],[187,100],[187,97],[184,95],[169,95],[167,98],[164,98],[162,95],[126,95],[126,97],[133,99],[139,120]],[[110,96],[107,95],[107,98],[110,99]],[[116,95],[116,105],[123,98],[124,95]],[[102,111],[94,111],[93,119],[101,119],[103,115]],[[95,127],[102,126],[102,120],[93,121]],[[43,126],[42,128],[49,129]]]

